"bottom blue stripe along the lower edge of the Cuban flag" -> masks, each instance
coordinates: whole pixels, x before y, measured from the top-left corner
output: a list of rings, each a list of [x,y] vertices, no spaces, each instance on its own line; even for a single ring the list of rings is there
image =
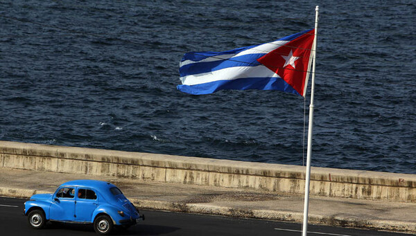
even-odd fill
[[[288,83],[281,78],[241,78],[236,80],[217,80],[204,84],[177,85],[177,89],[184,93],[194,95],[214,93],[222,89],[260,89],[260,90],[279,90],[287,93],[300,95]]]

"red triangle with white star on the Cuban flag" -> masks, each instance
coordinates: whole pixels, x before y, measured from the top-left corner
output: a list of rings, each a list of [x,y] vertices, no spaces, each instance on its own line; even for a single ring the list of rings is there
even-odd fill
[[[304,96],[314,37],[315,30],[310,30],[291,42],[263,55],[257,61],[277,73],[297,93]]]

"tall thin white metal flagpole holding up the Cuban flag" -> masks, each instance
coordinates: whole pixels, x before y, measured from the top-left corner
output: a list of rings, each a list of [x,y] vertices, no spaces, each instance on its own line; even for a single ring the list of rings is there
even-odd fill
[[[308,209],[309,209],[309,182],[311,181],[311,154],[312,154],[312,127],[313,127],[313,96],[315,92],[315,62],[316,62],[316,37],[318,35],[318,12],[319,6],[315,8],[315,37],[313,37],[313,64],[311,81],[311,105],[309,105],[309,127],[308,127],[308,152],[306,154],[306,178],[305,178],[305,202],[304,221],[302,225],[302,236],[308,232]]]

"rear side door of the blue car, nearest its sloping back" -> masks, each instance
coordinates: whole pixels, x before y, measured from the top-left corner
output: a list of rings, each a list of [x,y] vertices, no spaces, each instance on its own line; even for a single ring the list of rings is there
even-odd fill
[[[75,215],[76,221],[92,222],[92,213],[98,206],[96,190],[92,188],[78,188]]]

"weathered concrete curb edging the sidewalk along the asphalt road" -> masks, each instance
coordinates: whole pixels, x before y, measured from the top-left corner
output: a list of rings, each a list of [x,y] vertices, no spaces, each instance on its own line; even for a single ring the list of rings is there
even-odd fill
[[[33,194],[51,193],[44,190],[28,190],[22,188],[0,187],[0,196],[30,198]],[[168,210],[205,215],[223,215],[227,217],[243,217],[267,219],[276,221],[290,221],[302,223],[303,214],[300,212],[284,212],[277,210],[253,210],[248,208],[230,208],[213,206],[207,203],[180,203],[170,201],[152,201],[144,199],[129,199],[137,208],[150,210]],[[383,221],[372,219],[358,219],[354,217],[333,217],[324,215],[309,215],[309,224],[344,226],[352,228],[367,228],[372,230],[388,230],[401,233],[416,233],[416,223],[404,221]]]

